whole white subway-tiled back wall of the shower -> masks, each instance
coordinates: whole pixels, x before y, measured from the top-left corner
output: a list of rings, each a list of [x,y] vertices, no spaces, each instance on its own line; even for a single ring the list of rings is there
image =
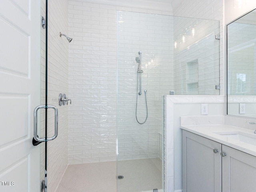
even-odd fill
[[[120,159],[155,157],[159,154],[159,140],[156,138],[162,133],[158,128],[158,131],[154,130],[156,126],[160,126],[159,122],[156,123],[156,119],[161,118],[161,108],[153,106],[162,106],[161,96],[174,90],[173,17],[119,11],[118,34],[116,34],[115,6],[70,1],[69,11],[70,35],[77,36],[77,41],[70,45],[69,88],[74,102],[77,103],[70,106],[69,112],[69,136],[71,136],[69,162],[115,160],[116,35],[118,105],[120,105],[118,119],[121,121],[119,130],[126,131],[126,133],[120,132],[118,138],[119,157]],[[214,43],[211,43],[214,47]],[[148,138],[148,131],[140,130],[135,115],[132,116],[135,114],[136,106],[138,65],[135,58],[139,56],[138,51],[142,52],[142,70],[144,70],[142,79],[146,79],[144,82],[142,80],[142,86],[148,90],[148,104],[152,106],[152,109],[149,107],[149,117],[154,114],[154,120],[151,118],[148,120],[148,122],[152,121],[150,125],[152,127],[149,128],[151,139]],[[215,78],[218,80],[218,76]],[[204,94],[205,90],[200,93]],[[138,98],[140,120],[145,118],[143,96],[144,94]],[[130,114],[129,118],[126,118],[127,114]],[[141,135],[138,134],[138,130]],[[83,143],[81,140],[84,139],[86,142]],[[132,142],[145,145],[149,140],[156,144],[155,147],[150,147],[149,154],[145,154],[148,146],[142,148],[140,144],[129,145]],[[84,148],[84,145],[87,147]],[[152,143],[148,145],[152,146]],[[92,155],[97,152],[104,154]]]

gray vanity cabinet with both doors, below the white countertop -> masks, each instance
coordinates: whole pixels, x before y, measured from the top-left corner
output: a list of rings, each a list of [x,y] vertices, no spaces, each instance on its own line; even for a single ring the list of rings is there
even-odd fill
[[[182,168],[183,192],[256,192],[255,156],[186,130]]]

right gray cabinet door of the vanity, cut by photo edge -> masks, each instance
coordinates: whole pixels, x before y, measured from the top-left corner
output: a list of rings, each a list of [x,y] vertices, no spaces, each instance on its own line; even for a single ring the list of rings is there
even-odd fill
[[[222,145],[222,192],[256,191],[256,157]]]

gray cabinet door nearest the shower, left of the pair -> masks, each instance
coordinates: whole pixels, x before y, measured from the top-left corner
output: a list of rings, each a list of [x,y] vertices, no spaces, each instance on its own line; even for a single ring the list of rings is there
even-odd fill
[[[184,192],[221,192],[220,152],[220,143],[182,131]]]

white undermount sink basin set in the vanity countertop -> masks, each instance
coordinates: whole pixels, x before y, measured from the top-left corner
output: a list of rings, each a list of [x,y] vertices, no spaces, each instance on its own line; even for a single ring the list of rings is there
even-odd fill
[[[224,132],[213,132],[215,134],[230,138],[232,140],[238,140],[244,143],[248,143],[256,146],[256,134],[250,134],[240,131],[224,131]]]

